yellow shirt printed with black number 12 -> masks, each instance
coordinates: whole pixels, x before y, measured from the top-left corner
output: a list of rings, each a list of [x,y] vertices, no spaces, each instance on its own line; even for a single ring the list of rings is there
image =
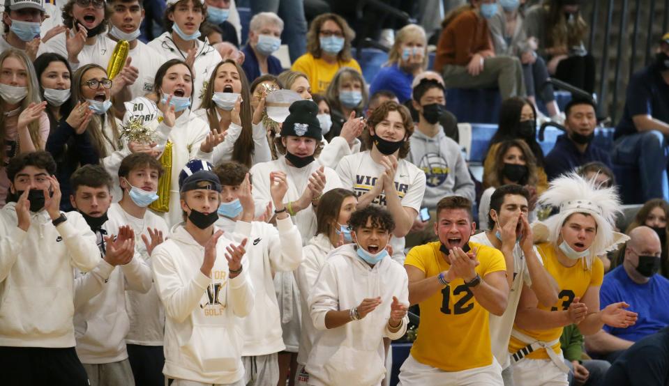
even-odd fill
[[[405,265],[412,265],[435,277],[448,270],[439,247],[439,241],[414,247],[407,254]],[[476,273],[481,278],[491,272],[506,271],[502,252],[470,241],[469,247],[478,248],[479,266]],[[411,355],[418,362],[444,371],[463,371],[493,363],[490,347],[488,310],[476,302],[474,294],[463,279],[456,279],[442,291],[419,303],[421,324],[418,338],[411,348]]]

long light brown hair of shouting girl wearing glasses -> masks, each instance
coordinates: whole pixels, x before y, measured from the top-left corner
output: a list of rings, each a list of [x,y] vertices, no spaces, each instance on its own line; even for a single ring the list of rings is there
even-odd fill
[[[84,87],[82,79],[84,79],[84,74],[86,72],[88,72],[89,70],[93,70],[95,68],[98,70],[102,70],[103,72],[105,72],[105,74],[107,74],[107,71],[105,71],[104,68],[94,63],[84,65],[75,71],[72,77],[72,86],[70,87],[70,92],[72,93],[73,101],[77,102],[85,101],[84,95],[82,94],[82,87]],[[114,106],[112,106],[110,107],[109,110],[107,110],[107,113],[104,114],[103,116],[100,117],[98,117],[97,115],[93,116],[93,118],[91,118],[91,121],[89,122],[88,127],[86,128],[86,131],[89,132],[89,134],[91,134],[91,142],[93,143],[93,146],[95,146],[100,159],[110,155],[107,153],[107,146],[105,146],[105,143],[109,144],[113,150],[119,150],[123,148],[123,144],[121,143],[121,138],[119,134],[119,128],[116,127],[116,119],[114,118],[115,116],[116,114]],[[112,129],[111,130],[112,138],[107,137],[107,134],[105,134],[104,130],[105,120]]]

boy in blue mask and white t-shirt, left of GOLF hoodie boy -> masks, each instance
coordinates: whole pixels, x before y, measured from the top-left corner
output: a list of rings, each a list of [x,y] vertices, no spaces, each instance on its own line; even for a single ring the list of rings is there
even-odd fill
[[[119,181],[123,198],[112,203],[110,219],[126,224],[135,233],[135,253],[151,265],[151,254],[163,242],[170,229],[163,217],[148,210],[158,199],[158,178],[163,166],[148,153],[134,153],[123,158],[119,167]],[[140,240],[141,238],[141,240]],[[147,293],[126,291],[126,310],[130,330],[126,335],[128,360],[133,368],[136,385],[163,386],[163,333],[165,311],[158,299],[156,286]]]

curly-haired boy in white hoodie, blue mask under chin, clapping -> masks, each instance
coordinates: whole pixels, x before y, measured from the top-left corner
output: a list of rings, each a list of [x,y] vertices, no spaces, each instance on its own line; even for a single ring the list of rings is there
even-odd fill
[[[391,213],[366,206],[349,225],[355,244],[331,252],[309,297],[320,330],[306,365],[312,386],[378,385],[386,374],[383,338],[407,330],[407,272],[386,252]]]

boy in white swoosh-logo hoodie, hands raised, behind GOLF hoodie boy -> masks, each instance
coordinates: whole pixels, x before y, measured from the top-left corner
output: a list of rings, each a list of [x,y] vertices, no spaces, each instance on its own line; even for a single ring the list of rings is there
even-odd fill
[[[291,272],[302,262],[302,238],[283,205],[288,190],[285,173],[270,173],[270,193],[276,228],[253,221],[255,205],[248,168],[239,162],[220,164],[214,173],[222,184],[216,226],[236,238],[253,240],[246,247],[249,275],[257,294],[253,310],[244,318],[242,360],[246,385],[276,385],[278,353],[285,350],[279,306],[274,291],[274,272]]]

